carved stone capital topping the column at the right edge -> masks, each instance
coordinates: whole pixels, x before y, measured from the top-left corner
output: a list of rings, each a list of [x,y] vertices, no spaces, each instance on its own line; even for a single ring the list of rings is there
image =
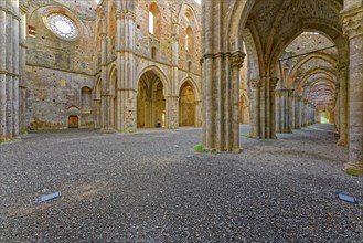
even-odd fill
[[[363,7],[342,11],[343,32],[349,39],[363,35]]]

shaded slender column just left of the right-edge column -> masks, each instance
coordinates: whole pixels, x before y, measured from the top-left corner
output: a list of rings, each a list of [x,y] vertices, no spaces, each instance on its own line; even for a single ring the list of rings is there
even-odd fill
[[[340,138],[338,141],[339,146],[348,146],[348,70],[346,65],[339,65],[338,66],[338,77],[340,81],[339,85],[339,119],[340,119]]]

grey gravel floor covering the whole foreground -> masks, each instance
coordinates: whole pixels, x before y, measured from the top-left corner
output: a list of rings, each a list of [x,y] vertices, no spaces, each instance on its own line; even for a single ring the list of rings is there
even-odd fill
[[[363,178],[332,129],[242,126],[239,155],[194,152],[192,128],[31,133],[0,145],[0,242],[362,242]]]

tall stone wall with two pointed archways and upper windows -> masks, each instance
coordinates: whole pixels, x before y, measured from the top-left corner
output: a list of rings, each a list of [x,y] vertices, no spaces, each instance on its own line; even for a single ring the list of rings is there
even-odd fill
[[[149,31],[149,11],[154,15],[154,31]],[[188,40],[186,40],[188,36]],[[179,126],[180,88],[190,82],[195,93],[195,126],[201,126],[201,35],[200,6],[185,1],[104,1],[96,11],[97,77],[102,88],[95,97],[96,113],[102,114],[97,126],[104,129],[136,131],[151,126],[164,116],[166,128]],[[188,46],[186,46],[188,43]],[[188,50],[186,50],[188,49]],[[110,93],[110,74],[116,72],[117,94]],[[137,104],[141,76],[151,72],[163,84],[164,105],[153,108],[152,125],[147,125],[142,105]],[[110,99],[117,96],[116,107]],[[160,103],[161,104],[161,103]],[[110,123],[114,110],[119,114]],[[141,123],[142,120],[142,123]],[[142,125],[145,124],[145,125]]]

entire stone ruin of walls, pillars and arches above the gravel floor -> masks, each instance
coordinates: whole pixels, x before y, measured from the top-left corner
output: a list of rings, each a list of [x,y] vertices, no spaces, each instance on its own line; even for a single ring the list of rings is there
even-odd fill
[[[321,119],[363,173],[362,0],[0,2],[0,139],[202,126],[239,151]],[[243,146],[242,146],[243,147]]]

